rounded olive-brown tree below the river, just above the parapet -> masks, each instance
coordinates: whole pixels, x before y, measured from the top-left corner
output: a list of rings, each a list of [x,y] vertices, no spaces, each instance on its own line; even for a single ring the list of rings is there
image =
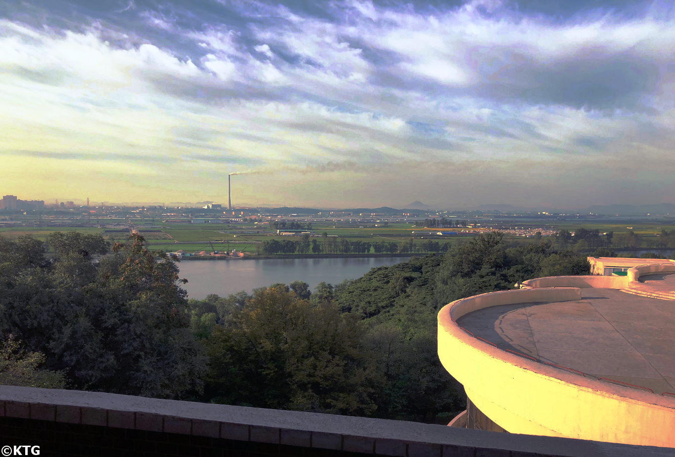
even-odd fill
[[[377,373],[364,330],[330,301],[255,291],[209,341],[207,398],[228,404],[369,415]]]

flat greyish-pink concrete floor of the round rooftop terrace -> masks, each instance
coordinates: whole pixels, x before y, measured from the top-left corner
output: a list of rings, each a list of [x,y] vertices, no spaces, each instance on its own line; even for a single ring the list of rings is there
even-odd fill
[[[645,276],[675,290],[675,274]],[[582,299],[518,303],[468,313],[458,324],[502,349],[608,377],[675,392],[675,301],[585,288]]]

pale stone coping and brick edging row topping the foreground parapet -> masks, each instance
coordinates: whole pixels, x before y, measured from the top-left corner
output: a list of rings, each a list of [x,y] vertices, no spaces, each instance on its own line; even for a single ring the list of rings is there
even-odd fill
[[[0,386],[0,415],[400,457],[675,456],[674,448],[16,386]]]

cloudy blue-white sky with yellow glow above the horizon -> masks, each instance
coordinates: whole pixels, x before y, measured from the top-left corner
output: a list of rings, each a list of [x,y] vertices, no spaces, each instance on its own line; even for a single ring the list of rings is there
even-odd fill
[[[0,195],[675,203],[670,1],[0,3]]]

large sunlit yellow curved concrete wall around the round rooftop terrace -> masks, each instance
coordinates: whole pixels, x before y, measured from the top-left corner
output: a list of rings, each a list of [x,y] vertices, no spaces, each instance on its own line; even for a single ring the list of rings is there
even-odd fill
[[[675,399],[506,353],[453,322],[485,307],[578,299],[579,293],[578,288],[521,289],[445,305],[438,314],[441,363],[483,413],[512,433],[675,447]]]

